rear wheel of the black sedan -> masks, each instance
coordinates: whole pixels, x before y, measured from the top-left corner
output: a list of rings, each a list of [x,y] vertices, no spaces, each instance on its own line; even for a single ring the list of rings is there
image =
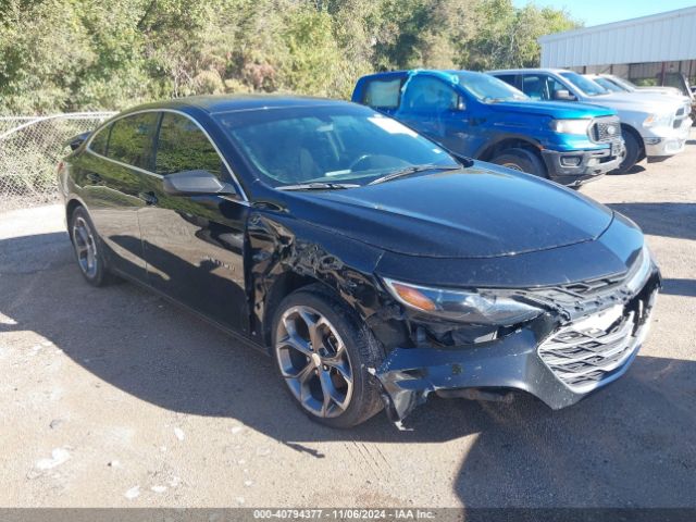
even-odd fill
[[[69,234],[79,271],[92,286],[104,286],[113,281],[107,268],[101,238],[84,207],[77,207],[70,216]]]

